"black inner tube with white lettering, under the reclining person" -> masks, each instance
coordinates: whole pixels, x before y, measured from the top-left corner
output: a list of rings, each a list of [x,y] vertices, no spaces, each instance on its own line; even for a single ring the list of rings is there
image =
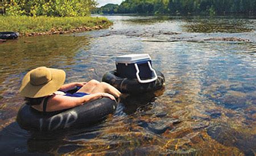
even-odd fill
[[[104,121],[115,112],[117,103],[109,98],[94,100],[82,106],[43,115],[27,104],[20,107],[16,121],[30,131],[49,132],[60,129],[88,127]]]

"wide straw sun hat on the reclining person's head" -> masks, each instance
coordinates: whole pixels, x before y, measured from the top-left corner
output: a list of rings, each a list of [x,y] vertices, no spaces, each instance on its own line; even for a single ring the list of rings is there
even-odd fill
[[[40,98],[57,91],[65,81],[65,71],[45,66],[29,71],[22,80],[19,92],[27,98]]]

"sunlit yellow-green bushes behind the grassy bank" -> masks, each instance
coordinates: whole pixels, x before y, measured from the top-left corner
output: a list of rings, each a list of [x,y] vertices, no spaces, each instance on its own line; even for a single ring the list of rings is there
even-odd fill
[[[86,16],[96,0],[0,0],[0,13],[28,16]]]

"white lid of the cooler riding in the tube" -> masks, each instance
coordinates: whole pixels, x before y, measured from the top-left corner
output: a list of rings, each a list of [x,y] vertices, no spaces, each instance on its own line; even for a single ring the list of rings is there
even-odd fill
[[[117,56],[115,63],[121,64],[133,64],[136,62],[149,61],[151,60],[149,54],[127,54],[123,56]]]

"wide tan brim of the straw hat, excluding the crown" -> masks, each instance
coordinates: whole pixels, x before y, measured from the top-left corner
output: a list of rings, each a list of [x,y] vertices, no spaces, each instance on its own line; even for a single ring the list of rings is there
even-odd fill
[[[30,83],[29,71],[22,80],[19,92],[22,96],[27,98],[40,98],[43,96],[51,95],[57,91],[65,82],[65,71],[60,69],[47,68],[52,73],[52,80],[44,85],[35,86]]]

